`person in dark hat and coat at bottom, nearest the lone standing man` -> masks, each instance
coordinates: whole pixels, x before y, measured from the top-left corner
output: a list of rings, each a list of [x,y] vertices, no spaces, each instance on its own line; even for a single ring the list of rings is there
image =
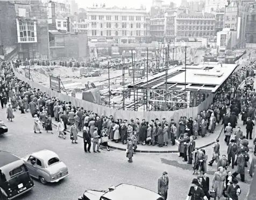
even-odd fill
[[[198,180],[196,178],[193,178],[193,181],[191,183],[192,183],[192,186],[189,189],[186,200],[189,200],[190,197],[191,197],[191,200],[202,200],[202,199],[208,200],[202,188],[198,187],[199,185]]]

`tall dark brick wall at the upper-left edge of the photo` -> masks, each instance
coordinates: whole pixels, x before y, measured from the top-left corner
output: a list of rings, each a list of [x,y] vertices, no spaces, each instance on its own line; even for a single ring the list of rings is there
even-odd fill
[[[0,55],[4,55],[6,49],[16,46],[17,28],[15,5],[8,1],[0,1]]]

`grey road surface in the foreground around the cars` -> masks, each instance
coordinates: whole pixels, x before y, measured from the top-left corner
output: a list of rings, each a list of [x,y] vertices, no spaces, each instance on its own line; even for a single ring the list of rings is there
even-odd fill
[[[30,113],[21,114],[17,110],[15,119],[9,122],[4,108],[0,109],[0,116],[9,128],[8,133],[0,135],[0,150],[23,157],[41,149],[49,149],[60,156],[70,173],[59,183],[42,185],[34,180],[35,188],[20,196],[19,200],[75,200],[84,190],[103,190],[120,183],[135,184],[157,192],[157,181],[163,171],[168,172],[170,180],[168,200],[177,200],[177,196],[179,199],[186,199],[191,180],[197,177],[192,175],[191,165],[183,162],[177,153],[137,153],[133,156],[133,163],[128,163],[125,152],[116,149],[111,149],[110,152],[103,149],[101,153],[85,153],[82,138],[78,139],[78,144],[72,144],[69,135],[66,140],[59,138],[55,127],[54,134],[46,131],[35,134]],[[221,152],[225,153],[224,134],[221,134],[220,139]],[[206,147],[205,150],[210,159],[212,146]],[[216,163],[208,168],[210,181],[216,169]],[[251,179],[248,175],[246,180],[247,183],[239,183],[243,191],[240,199],[245,199],[249,189]]]

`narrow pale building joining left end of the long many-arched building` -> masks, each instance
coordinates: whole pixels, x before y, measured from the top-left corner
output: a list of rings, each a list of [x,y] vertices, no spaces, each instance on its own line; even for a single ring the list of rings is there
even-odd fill
[[[175,40],[176,37],[176,10],[167,10],[165,12],[165,38],[167,41]]]

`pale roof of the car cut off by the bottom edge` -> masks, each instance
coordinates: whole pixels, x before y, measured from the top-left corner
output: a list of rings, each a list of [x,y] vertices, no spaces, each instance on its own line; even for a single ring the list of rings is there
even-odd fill
[[[127,195],[127,192],[129,192],[129,195]],[[126,194],[126,195],[125,195]],[[115,190],[108,191],[102,197],[111,199],[111,200],[140,200],[140,199],[147,199],[147,200],[157,200],[159,197],[161,197],[156,192],[153,192],[151,190],[141,188],[136,185],[130,185],[130,184],[119,184],[117,185]]]

